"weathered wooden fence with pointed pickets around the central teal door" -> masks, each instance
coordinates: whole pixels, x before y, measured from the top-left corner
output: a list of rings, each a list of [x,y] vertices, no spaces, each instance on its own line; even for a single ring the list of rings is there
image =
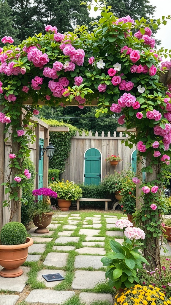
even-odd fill
[[[130,149],[128,146],[125,146],[121,143],[121,140],[126,139],[123,136],[122,132],[117,136],[116,132],[113,135],[104,136],[98,135],[96,132],[95,136],[92,136],[91,131],[89,135],[85,136],[83,131],[82,136],[79,136],[79,133],[76,133],[75,137],[71,139],[71,151],[68,159],[65,163],[65,171],[61,175],[61,179],[75,181],[75,183],[83,182],[84,175],[84,153],[89,148],[96,148],[102,154],[101,167],[102,167],[102,177],[107,173],[114,173],[114,170],[121,171],[124,168],[130,167],[131,163],[131,153],[136,149],[134,146]],[[123,161],[119,162],[116,167],[112,167],[109,162],[106,162],[105,159],[107,155],[119,155]]]

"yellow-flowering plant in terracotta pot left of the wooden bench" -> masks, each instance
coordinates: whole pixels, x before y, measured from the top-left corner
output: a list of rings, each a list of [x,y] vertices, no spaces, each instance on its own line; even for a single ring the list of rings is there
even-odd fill
[[[49,187],[58,193],[58,206],[61,211],[68,211],[72,200],[82,197],[82,188],[75,184],[74,181],[69,182],[64,179],[62,181],[54,181]]]

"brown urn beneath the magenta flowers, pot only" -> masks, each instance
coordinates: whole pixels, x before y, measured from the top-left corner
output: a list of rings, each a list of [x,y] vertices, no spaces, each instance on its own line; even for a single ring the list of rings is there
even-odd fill
[[[42,213],[42,219],[40,219],[39,215],[34,217],[33,224],[35,224],[35,226],[37,227],[34,232],[39,234],[48,233],[49,229],[47,229],[46,227],[51,223],[53,214],[53,212]]]

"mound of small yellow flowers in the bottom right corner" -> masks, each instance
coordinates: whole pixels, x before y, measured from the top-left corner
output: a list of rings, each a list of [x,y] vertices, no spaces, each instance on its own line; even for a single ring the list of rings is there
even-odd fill
[[[114,305],[169,305],[171,298],[167,298],[160,288],[149,286],[135,285],[119,296],[115,296]]]

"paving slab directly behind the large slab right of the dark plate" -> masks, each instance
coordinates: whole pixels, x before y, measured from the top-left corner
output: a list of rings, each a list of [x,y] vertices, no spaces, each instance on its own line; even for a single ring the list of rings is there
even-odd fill
[[[100,261],[103,256],[101,255],[76,255],[74,267],[75,268],[88,268],[93,267],[99,269],[103,267],[103,263]]]

